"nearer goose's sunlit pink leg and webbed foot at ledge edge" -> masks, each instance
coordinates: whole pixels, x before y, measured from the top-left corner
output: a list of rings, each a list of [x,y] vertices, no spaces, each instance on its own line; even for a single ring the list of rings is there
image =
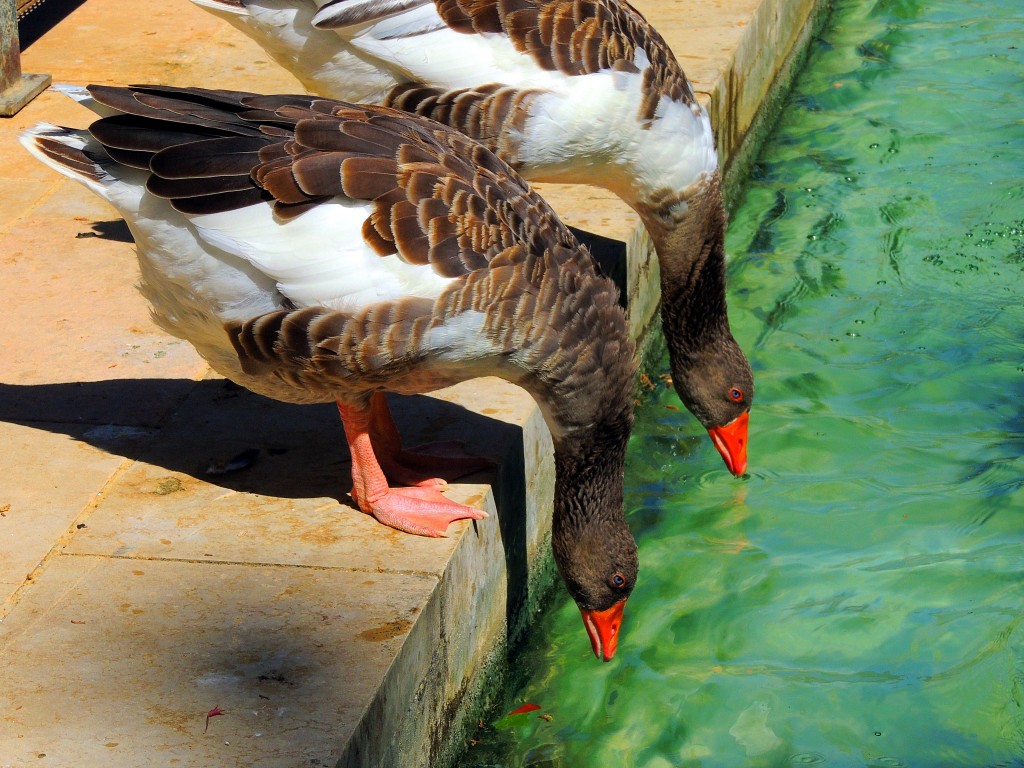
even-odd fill
[[[352,499],[361,511],[392,528],[429,537],[445,536],[455,520],[487,516],[449,501],[436,487],[389,487],[370,442],[371,410],[338,402],[338,413],[352,455]]]

